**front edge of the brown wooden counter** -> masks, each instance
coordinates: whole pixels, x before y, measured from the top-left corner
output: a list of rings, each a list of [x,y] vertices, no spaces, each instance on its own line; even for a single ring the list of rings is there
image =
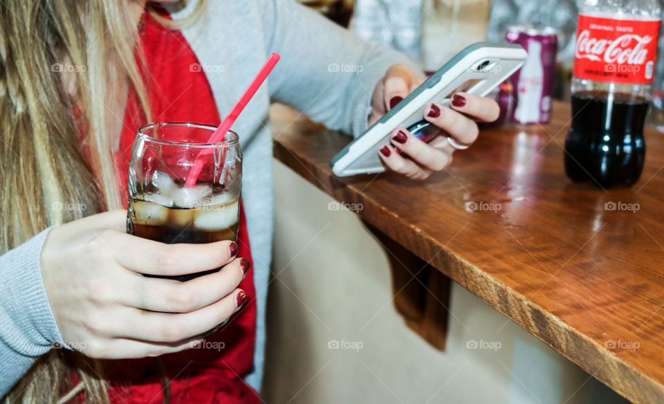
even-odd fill
[[[449,276],[470,293],[501,312],[508,319],[519,324],[520,327],[598,378],[611,389],[635,403],[664,401],[664,385],[658,383],[654,378],[647,376],[618,358],[614,353],[602,348],[591,338],[569,327],[557,316],[546,312],[541,306],[528,300],[526,296],[507,288],[494,277],[473,266],[463,257],[459,257],[452,250],[445,246],[439,246],[432,237],[414,229],[413,226],[405,223],[397,215],[391,214],[385,208],[382,208],[373,199],[362,196],[363,199],[358,200],[355,194],[363,194],[361,190],[356,188],[356,185],[344,183],[333,176],[331,170],[324,172],[306,158],[304,160],[298,158],[278,139],[275,139],[273,144],[275,146],[274,156],[281,163],[284,163],[306,181],[313,183],[315,187],[340,202],[374,205],[374,209],[365,208],[357,212],[358,215],[384,232],[385,235],[398,240],[399,244],[411,250],[424,261],[429,262],[434,268]],[[301,165],[304,170],[297,169],[297,165]],[[387,217],[378,218],[375,217],[375,214],[367,214],[367,212],[378,212],[378,215],[387,215]],[[400,221],[402,223],[401,229],[406,230],[409,234],[394,234],[394,226],[382,224],[386,223],[385,220]],[[416,236],[417,242],[414,242],[414,236]],[[439,251],[432,257],[431,252],[436,249],[439,249]],[[475,273],[475,276],[469,276],[468,271]],[[478,282],[478,279],[482,279],[481,282]],[[489,293],[489,290],[496,290],[499,293]],[[499,299],[498,296],[504,296],[505,298]],[[553,338],[554,336],[558,338]],[[609,371],[609,369],[614,370]],[[620,374],[622,377],[617,378],[616,374]]]

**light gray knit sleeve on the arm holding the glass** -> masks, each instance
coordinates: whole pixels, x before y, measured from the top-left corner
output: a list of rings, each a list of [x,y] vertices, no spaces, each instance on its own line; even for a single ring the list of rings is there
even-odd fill
[[[0,397],[37,357],[65,347],[42,279],[39,257],[49,229],[0,256]]]

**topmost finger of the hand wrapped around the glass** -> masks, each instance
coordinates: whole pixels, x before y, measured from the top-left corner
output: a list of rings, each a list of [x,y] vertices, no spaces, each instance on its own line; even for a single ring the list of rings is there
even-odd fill
[[[219,268],[237,255],[234,241],[207,244],[164,244],[121,232],[109,233],[107,241],[118,264],[149,275],[187,275]]]

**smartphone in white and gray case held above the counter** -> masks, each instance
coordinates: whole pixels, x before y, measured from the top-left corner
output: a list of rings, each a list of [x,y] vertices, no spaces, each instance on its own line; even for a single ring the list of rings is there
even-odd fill
[[[478,42],[461,50],[450,62],[418,86],[394,109],[371,125],[330,161],[337,176],[374,174],[385,171],[378,150],[389,143],[389,135],[398,127],[428,142],[442,131],[423,118],[427,104],[448,106],[454,93],[484,96],[515,73],[528,54],[517,44]]]

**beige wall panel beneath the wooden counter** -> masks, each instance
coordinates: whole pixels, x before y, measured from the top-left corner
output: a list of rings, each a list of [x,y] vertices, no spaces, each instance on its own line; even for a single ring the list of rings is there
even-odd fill
[[[456,283],[447,350],[432,349],[394,311],[386,253],[356,215],[281,163],[275,189],[266,403],[623,402]]]

